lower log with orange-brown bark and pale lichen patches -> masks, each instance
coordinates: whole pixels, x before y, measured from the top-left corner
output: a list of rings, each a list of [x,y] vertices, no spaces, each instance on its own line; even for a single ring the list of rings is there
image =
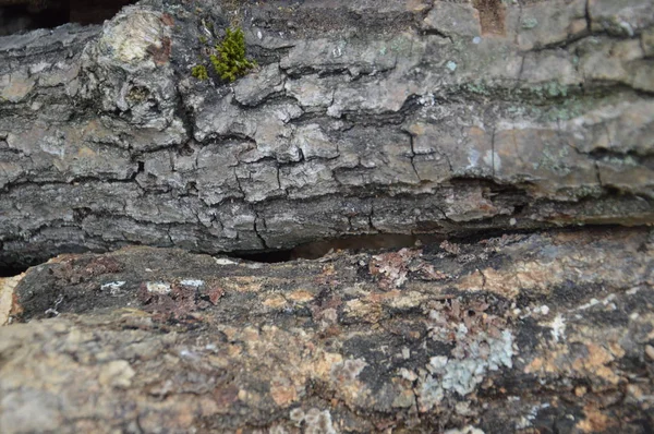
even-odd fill
[[[34,321],[0,327],[0,431],[651,433],[653,252],[603,229],[60,256],[15,287]]]

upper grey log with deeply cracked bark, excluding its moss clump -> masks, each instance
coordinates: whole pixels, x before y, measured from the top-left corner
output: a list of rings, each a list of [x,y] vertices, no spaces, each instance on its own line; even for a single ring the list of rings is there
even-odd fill
[[[0,262],[654,220],[650,0],[219,4],[0,38]]]

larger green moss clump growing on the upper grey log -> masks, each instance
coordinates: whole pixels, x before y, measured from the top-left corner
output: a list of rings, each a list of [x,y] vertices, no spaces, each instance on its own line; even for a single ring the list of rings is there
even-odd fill
[[[256,65],[256,62],[245,59],[245,37],[241,28],[228,28],[225,39],[216,46],[216,50],[218,55],[210,55],[209,60],[222,80],[233,82]]]

